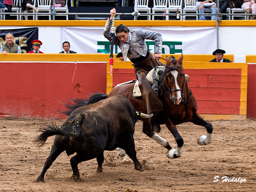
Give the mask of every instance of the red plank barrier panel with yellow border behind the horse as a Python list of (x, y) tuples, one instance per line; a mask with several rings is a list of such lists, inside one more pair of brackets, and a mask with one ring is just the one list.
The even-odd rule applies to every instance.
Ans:
[[(245, 118), (247, 102), (247, 64), (183, 62), (190, 77), (189, 88), (198, 102), (198, 113), (215, 114), (207, 119)], [(129, 62), (116, 62), (108, 76), (107, 93), (116, 84), (136, 79)]]

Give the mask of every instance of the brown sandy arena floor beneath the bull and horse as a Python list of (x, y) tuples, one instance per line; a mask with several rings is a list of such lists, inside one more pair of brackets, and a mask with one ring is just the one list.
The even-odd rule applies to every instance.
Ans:
[[(1, 192), (255, 192), (256, 121), (212, 121), (213, 142), (197, 144), (206, 134), (203, 127), (178, 125), (183, 137), (180, 158), (167, 158), (167, 150), (142, 133), (142, 122), (135, 127), (138, 160), (145, 171), (122, 162), (116, 151), (105, 151), (103, 173), (96, 173), (96, 159), (79, 164), (82, 181), (72, 180), (70, 158), (64, 152), (46, 172), (44, 182), (36, 182), (42, 171), (54, 137), (43, 148), (32, 140), (40, 125), (60, 120), (0, 119), (0, 191)], [(159, 135), (176, 148), (166, 126)], [(222, 177), (239, 180), (223, 182)], [(217, 178), (218, 177), (218, 181)], [(216, 182), (214, 182), (214, 180)], [(242, 182), (241, 182), (242, 181)]]

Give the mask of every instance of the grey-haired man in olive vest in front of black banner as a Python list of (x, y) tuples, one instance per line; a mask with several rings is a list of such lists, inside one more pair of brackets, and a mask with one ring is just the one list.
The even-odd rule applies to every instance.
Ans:
[(15, 44), (13, 41), (14, 41), (14, 36), (12, 35), (12, 33), (7, 33), (6, 44), (3, 44), (0, 47), (0, 52), (3, 55), (6, 55), (7, 53), (21, 53), (20, 46)]

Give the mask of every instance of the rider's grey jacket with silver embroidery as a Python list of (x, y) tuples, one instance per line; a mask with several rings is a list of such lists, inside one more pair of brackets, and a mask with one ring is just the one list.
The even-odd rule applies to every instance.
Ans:
[[(105, 25), (103, 34), (105, 38), (111, 41), (111, 27), (112, 20), (108, 19)], [(161, 53), (162, 50), (162, 35), (159, 32), (134, 29), (129, 32), (128, 42), (122, 43), (119, 38), (114, 36), (114, 44), (118, 45), (122, 51), (124, 61), (127, 57), (129, 59), (138, 58), (140, 55), (146, 56), (148, 48), (145, 43), (145, 39), (150, 39), (155, 41), (154, 53)], [(129, 53), (128, 53), (129, 50)]]

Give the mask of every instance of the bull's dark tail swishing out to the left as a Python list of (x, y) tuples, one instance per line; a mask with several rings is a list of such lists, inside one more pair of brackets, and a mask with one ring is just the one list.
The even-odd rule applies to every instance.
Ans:
[(77, 134), (67, 133), (61, 131), (54, 123), (51, 125), (45, 125), (45, 127), (39, 129), (42, 132), (33, 142), (38, 143), (39, 147), (42, 147), (46, 142), (47, 138), (52, 135), (63, 135), (63, 136), (76, 136)]

